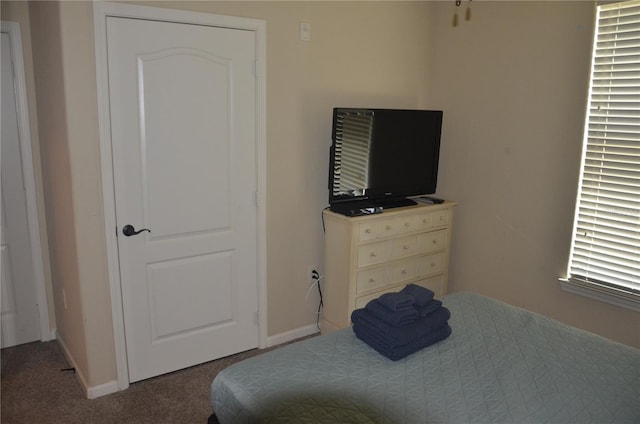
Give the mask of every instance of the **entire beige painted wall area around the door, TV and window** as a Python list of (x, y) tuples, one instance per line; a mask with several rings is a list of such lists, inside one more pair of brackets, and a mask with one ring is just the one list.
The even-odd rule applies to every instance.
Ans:
[[(575, 199), (591, 4), (473, 2), (472, 21), (457, 28), (454, 2), (143, 4), (267, 22), (269, 335), (316, 321), (306, 272), (323, 259), (331, 108), (425, 107), (445, 110), (438, 194), (460, 202), (451, 288), (640, 346), (637, 313), (557, 282)], [(115, 379), (115, 360), (91, 13), (90, 2), (38, 3), (30, 25), (58, 328), (98, 385)], [(310, 42), (298, 39), (300, 21), (311, 23)]]

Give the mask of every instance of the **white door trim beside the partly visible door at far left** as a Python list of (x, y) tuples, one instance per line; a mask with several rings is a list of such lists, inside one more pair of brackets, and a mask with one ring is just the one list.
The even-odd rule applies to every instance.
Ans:
[(20, 136), (20, 154), (22, 159), (22, 177), (27, 206), (27, 223), (29, 225), (29, 246), (33, 256), (33, 277), (35, 279), (36, 301), (40, 314), (40, 340), (43, 342), (54, 338), (49, 323), (49, 305), (45, 288), (44, 265), (42, 261), (42, 240), (40, 239), (40, 222), (38, 221), (38, 205), (36, 200), (36, 183), (33, 169), (33, 151), (31, 149), (31, 129), (29, 126), (29, 107), (27, 104), (27, 83), (22, 55), (22, 37), (17, 22), (0, 21), (0, 32), (9, 35), (13, 58), (16, 96), (16, 113), (18, 118), (18, 134)]

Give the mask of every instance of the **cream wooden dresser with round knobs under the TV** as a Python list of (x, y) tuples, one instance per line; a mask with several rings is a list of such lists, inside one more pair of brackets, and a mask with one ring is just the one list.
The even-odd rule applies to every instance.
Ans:
[(386, 292), (419, 284), (447, 293), (456, 203), (346, 217), (324, 211), (322, 333), (347, 327), (351, 312)]

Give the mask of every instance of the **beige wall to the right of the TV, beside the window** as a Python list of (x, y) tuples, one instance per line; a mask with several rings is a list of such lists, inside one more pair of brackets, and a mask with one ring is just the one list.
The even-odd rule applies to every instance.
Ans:
[[(461, 7), (461, 16), (464, 8)], [(456, 211), (450, 288), (640, 347), (640, 314), (561, 290), (586, 110), (592, 2), (434, 3), (439, 194)]]

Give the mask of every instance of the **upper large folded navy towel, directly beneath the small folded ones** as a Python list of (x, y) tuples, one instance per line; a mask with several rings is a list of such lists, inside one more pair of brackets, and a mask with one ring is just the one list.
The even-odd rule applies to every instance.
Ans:
[(428, 333), (439, 329), (447, 323), (451, 317), (451, 312), (441, 306), (435, 312), (426, 317), (419, 318), (411, 324), (402, 327), (394, 327), (376, 318), (365, 308), (356, 309), (351, 313), (351, 321), (358, 324), (364, 331), (377, 334), (388, 345), (401, 346), (415, 339), (421, 338)]

